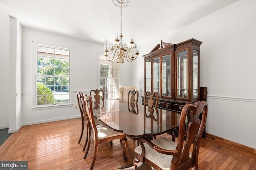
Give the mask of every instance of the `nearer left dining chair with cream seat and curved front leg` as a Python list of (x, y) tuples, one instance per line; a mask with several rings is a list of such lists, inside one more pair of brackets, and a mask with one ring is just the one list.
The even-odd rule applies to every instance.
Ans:
[(88, 140), (88, 146), (86, 149), (86, 153), (84, 155), (84, 159), (86, 158), (90, 144), (91, 144), (91, 139), (94, 140), (94, 153), (93, 153), (93, 158), (92, 158), (92, 163), (90, 166), (90, 170), (92, 170), (97, 153), (98, 153), (98, 145), (102, 144), (104, 142), (112, 141), (115, 139), (119, 139), (124, 143), (124, 150), (123, 150), (123, 157), (124, 160), (127, 161), (127, 157), (125, 156), (125, 150), (127, 146), (127, 138), (122, 132), (117, 132), (115, 130), (112, 130), (111, 128), (107, 127), (106, 125), (95, 125), (94, 121), (94, 115), (92, 111), (92, 98), (90, 96), (83, 96), (83, 105), (84, 105), (84, 111), (87, 114), (88, 118), (88, 128), (89, 128), (89, 140)]

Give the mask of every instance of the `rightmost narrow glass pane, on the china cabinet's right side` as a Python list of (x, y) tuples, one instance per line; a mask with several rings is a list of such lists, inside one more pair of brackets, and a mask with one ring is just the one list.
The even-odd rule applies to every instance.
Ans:
[(193, 50), (193, 98), (198, 98), (198, 51)]

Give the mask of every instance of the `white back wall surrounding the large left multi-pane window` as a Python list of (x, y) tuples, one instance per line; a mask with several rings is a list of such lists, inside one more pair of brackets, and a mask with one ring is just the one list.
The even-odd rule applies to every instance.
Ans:
[[(72, 85), (73, 85), (73, 105), (70, 107), (52, 109), (32, 109), (32, 89), (33, 89), (33, 42), (58, 45), (62, 47), (72, 47)], [(23, 91), (23, 124), (30, 125), (48, 121), (71, 119), (80, 117), (80, 112), (75, 109), (77, 105), (76, 93), (86, 92), (98, 87), (98, 52), (103, 52), (103, 45), (84, 40), (64, 37), (47, 32), (23, 28), (23, 58), (22, 58), (22, 91)], [(121, 72), (124, 82), (129, 82), (130, 75), (126, 73), (129, 65), (122, 65)]]

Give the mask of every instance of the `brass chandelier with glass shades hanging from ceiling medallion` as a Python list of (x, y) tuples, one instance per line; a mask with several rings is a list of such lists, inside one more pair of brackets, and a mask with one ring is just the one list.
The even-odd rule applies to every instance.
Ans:
[[(105, 57), (108, 61), (112, 61), (117, 57), (118, 63), (124, 63), (124, 58), (128, 62), (132, 62), (138, 57), (139, 45), (137, 44), (137, 39), (135, 39), (134, 34), (130, 34), (130, 44), (126, 45), (124, 36), (122, 35), (122, 7), (129, 6), (132, 0), (112, 0), (115, 6), (120, 7), (120, 33), (115, 32), (115, 42), (109, 42), (109, 38), (104, 36), (104, 51)], [(114, 55), (109, 56), (108, 52), (111, 51)]]

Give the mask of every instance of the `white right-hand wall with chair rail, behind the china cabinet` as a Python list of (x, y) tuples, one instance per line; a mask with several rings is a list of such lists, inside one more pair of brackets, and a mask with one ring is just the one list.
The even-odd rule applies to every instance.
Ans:
[[(202, 41), (200, 86), (208, 87), (206, 131), (252, 148), (256, 148), (255, 8), (254, 0), (235, 2), (184, 26), (175, 34), (160, 36), (154, 45), (149, 42), (146, 48), (149, 53), (160, 40), (179, 43), (195, 38)], [(140, 57), (134, 67), (136, 73), (140, 73), (137, 82), (143, 81), (143, 67), (139, 67), (142, 61)], [(139, 85), (143, 89), (142, 84)]]

